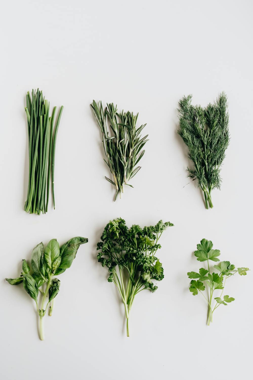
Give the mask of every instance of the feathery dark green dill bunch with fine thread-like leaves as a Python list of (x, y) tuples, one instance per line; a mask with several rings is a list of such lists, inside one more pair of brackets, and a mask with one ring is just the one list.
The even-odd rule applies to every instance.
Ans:
[(193, 106), (192, 95), (179, 101), (178, 133), (189, 149), (194, 169), (187, 168), (189, 177), (198, 179), (204, 192), (206, 208), (212, 208), (211, 191), (220, 189), (220, 170), (229, 144), (228, 104), (225, 93), (206, 108)]

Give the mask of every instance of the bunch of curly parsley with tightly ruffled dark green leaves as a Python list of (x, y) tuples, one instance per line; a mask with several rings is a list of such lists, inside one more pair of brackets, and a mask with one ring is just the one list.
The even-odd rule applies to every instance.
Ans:
[(140, 228), (133, 225), (127, 228), (126, 222), (117, 218), (109, 222), (97, 243), (97, 260), (102, 266), (107, 266), (110, 275), (108, 282), (113, 282), (123, 301), (127, 336), (129, 336), (129, 313), (137, 293), (148, 289), (153, 293), (157, 286), (152, 280), (163, 279), (163, 267), (156, 252), (161, 248), (158, 244), (161, 234), (172, 223), (163, 223)]

